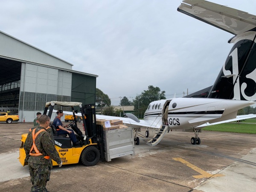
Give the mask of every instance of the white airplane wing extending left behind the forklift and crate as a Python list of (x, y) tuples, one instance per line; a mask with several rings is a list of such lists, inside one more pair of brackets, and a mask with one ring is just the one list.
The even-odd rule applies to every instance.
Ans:
[[(57, 110), (53, 110), (52, 112), (57, 112)], [(66, 115), (73, 115), (72, 112), (70, 111), (63, 111), (64, 114)], [(81, 113), (76, 113), (76, 116), (82, 116)], [(157, 124), (158, 122), (153, 122), (149, 120), (141, 120), (140, 122), (136, 122), (131, 118), (127, 117), (118, 117), (118, 116), (107, 116), (107, 115), (96, 115), (96, 119), (119, 119), (122, 120), (123, 124), (128, 126), (128, 127), (133, 127), (133, 128), (141, 128), (141, 127), (146, 127), (146, 128), (160, 128), (160, 125)]]

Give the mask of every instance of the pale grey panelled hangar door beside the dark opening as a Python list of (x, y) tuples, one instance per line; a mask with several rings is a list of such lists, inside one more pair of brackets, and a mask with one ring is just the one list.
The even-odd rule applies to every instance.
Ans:
[[(22, 63), (20, 78), (20, 119), (33, 121), (50, 101), (71, 101), (72, 73)], [(58, 108), (56, 108), (58, 110)], [(62, 110), (67, 111), (66, 108)], [(70, 109), (68, 109), (69, 111)]]

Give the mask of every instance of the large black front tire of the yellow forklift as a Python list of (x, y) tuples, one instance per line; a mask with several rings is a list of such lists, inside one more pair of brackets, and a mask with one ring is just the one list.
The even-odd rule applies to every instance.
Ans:
[(95, 166), (99, 162), (100, 153), (96, 147), (89, 146), (81, 152), (81, 162), (84, 166)]

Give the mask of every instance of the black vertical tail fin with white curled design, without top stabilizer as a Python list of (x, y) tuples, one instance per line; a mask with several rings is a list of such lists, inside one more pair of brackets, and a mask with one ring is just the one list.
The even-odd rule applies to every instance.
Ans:
[(232, 39), (232, 47), (208, 98), (256, 101), (256, 32)]

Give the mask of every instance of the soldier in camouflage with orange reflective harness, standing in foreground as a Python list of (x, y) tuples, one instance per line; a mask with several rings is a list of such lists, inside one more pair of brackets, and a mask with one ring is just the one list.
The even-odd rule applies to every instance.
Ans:
[(62, 165), (61, 158), (54, 146), (52, 138), (45, 130), (49, 127), (49, 122), (49, 116), (42, 115), (40, 117), (40, 126), (29, 132), (23, 146), (26, 154), (29, 154), (27, 156), (29, 158), (26, 157), (25, 161), (29, 163), (32, 192), (47, 192), (45, 186), (49, 172), (50, 158), (55, 160), (60, 166)]

